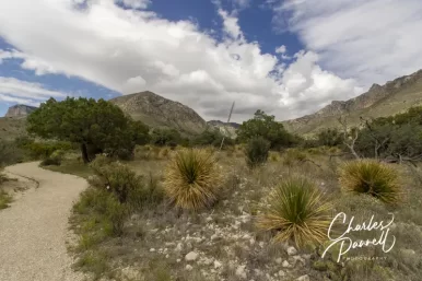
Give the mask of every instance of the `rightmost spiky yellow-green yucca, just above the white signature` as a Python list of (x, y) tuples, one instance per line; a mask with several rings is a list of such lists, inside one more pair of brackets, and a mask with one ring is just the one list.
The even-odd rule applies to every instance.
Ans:
[(340, 168), (340, 185), (345, 191), (368, 194), (389, 204), (399, 203), (402, 196), (398, 172), (375, 160), (345, 163)]

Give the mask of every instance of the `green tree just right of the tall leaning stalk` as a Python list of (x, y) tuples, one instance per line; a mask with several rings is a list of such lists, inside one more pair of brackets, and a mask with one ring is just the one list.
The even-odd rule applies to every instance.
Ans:
[(237, 130), (237, 138), (241, 142), (262, 137), (270, 141), (271, 149), (290, 147), (296, 142), (296, 138), (289, 133), (281, 122), (276, 121), (276, 117), (267, 115), (258, 109), (253, 119), (244, 121)]

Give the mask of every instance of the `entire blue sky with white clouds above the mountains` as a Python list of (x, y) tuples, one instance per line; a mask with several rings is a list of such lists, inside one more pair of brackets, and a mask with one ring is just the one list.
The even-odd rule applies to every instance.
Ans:
[(422, 68), (421, 0), (0, 1), (0, 116), (152, 91), (206, 120), (312, 114)]

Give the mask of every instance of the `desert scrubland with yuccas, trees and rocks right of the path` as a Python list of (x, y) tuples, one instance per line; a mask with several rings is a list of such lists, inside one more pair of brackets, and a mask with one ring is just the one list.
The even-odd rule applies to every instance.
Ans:
[[(149, 129), (104, 101), (50, 99), (28, 118), (32, 138), (14, 143), (22, 161), (87, 179), (70, 250), (93, 279), (413, 281), (422, 274), (420, 116), (412, 108), (359, 128), (341, 120), (303, 139), (258, 110), (223, 141), (212, 130)], [(392, 214), (396, 244), (340, 255), (328, 236), (338, 213), (354, 224)]]

